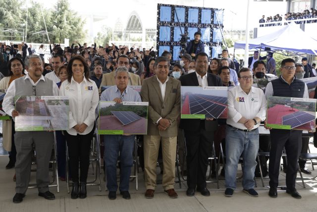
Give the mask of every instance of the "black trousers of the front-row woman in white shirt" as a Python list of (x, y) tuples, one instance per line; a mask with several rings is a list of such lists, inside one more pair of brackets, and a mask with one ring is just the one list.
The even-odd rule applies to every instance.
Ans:
[[(76, 136), (72, 136), (64, 131), (68, 147), (70, 174), (73, 182), (75, 183), (79, 180), (82, 183), (87, 182), (90, 145), (94, 131), (95, 128), (93, 128), (93, 130), (86, 135), (77, 134)], [(80, 178), (78, 170), (79, 165)]]

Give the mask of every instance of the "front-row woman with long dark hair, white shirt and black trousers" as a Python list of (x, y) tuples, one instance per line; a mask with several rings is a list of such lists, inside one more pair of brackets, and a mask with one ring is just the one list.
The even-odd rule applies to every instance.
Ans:
[(87, 197), (89, 152), (95, 131), (99, 94), (96, 83), (89, 79), (89, 68), (83, 57), (75, 56), (70, 59), (67, 74), (67, 80), (59, 88), (59, 95), (69, 97), (69, 130), (64, 131), (64, 134), (73, 181), (71, 198), (83, 199)]

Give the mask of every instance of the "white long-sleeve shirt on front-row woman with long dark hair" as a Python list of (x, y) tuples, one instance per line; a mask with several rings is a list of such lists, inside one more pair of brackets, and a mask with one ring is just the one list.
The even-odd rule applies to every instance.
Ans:
[[(59, 88), (60, 96), (69, 97), (69, 130), (67, 133), (76, 136), (86, 135), (93, 130), (96, 120), (96, 108), (99, 103), (98, 87), (93, 80), (84, 80), (78, 83), (71, 78), (65, 80)], [(73, 127), (85, 123), (88, 127), (83, 133), (78, 133)]]

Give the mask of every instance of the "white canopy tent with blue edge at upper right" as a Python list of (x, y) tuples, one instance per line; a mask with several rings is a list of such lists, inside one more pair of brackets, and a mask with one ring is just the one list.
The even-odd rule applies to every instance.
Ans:
[[(296, 54), (317, 55), (317, 40), (304, 32), (300, 24), (291, 23), (281, 29), (249, 41), (249, 49), (270, 48), (272, 51), (290, 51)], [(245, 49), (245, 42), (235, 42), (235, 49)]]

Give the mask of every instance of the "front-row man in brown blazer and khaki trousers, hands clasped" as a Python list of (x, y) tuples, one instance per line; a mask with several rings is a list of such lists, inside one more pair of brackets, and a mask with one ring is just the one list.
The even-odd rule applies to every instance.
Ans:
[(159, 143), (162, 143), (164, 191), (177, 198), (174, 191), (177, 143), (177, 118), (180, 115), (180, 81), (168, 77), (169, 60), (158, 57), (156, 75), (143, 80), (141, 98), (149, 102), (148, 135), (144, 136), (146, 198), (153, 198), (156, 188), (156, 166)]

